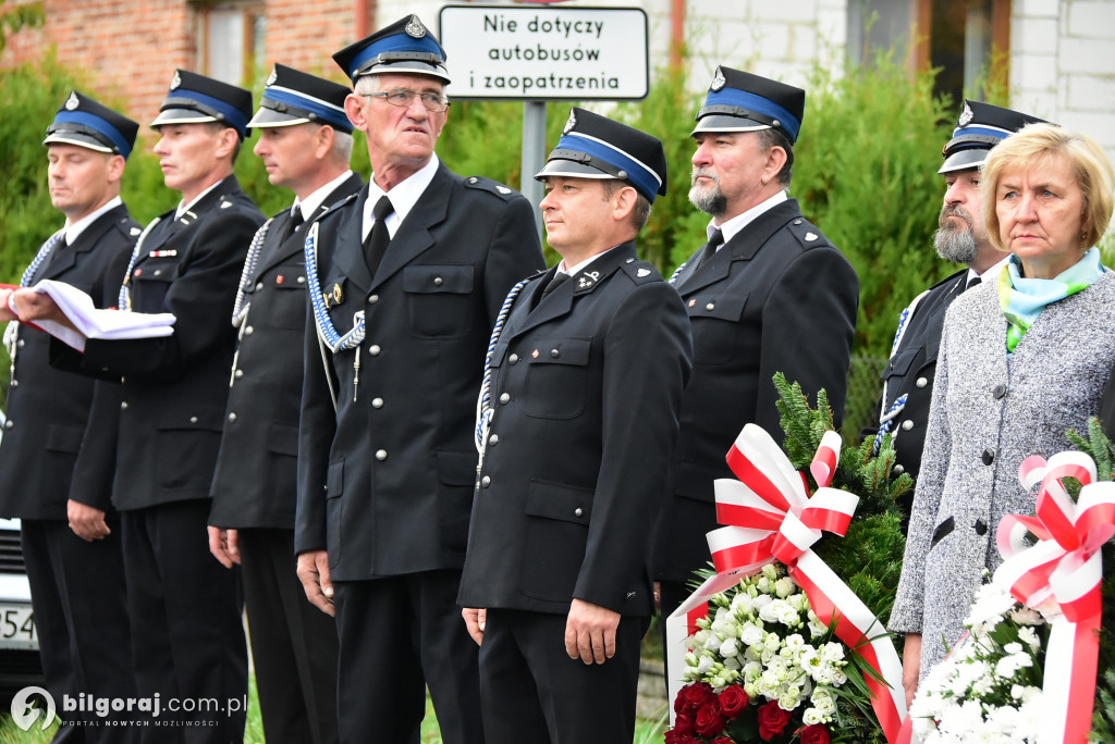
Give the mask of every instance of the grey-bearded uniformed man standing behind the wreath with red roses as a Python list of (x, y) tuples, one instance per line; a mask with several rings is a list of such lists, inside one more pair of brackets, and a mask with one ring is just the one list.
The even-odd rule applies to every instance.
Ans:
[[(717, 68), (692, 138), (689, 199), (712, 216), (708, 244), (675, 275), (689, 311), (694, 373), (651, 559), (662, 616), (709, 561), (712, 481), (733, 478), (725, 456), (746, 423), (783, 441), (772, 379), (784, 372), (844, 410), (859, 281), (844, 255), (786, 189), (805, 91)], [(665, 627), (665, 624), (663, 624)]]

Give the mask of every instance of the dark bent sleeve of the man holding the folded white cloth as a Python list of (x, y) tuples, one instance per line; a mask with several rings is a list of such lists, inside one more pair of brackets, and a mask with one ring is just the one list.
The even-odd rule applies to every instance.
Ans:
[(259, 215), (246, 211), (229, 211), (209, 221), (164, 300), (164, 310), (176, 319), (174, 333), (159, 339), (89, 339), (83, 368), (173, 379), (227, 344), (244, 255), (260, 223)]

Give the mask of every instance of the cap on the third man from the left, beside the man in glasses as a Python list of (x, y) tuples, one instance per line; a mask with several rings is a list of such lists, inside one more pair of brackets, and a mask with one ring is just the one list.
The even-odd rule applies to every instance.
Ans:
[(297, 124), (328, 124), (338, 131), (352, 134), (352, 123), (345, 114), (347, 86), (319, 78), (293, 67), (275, 65), (250, 127), (290, 127)]

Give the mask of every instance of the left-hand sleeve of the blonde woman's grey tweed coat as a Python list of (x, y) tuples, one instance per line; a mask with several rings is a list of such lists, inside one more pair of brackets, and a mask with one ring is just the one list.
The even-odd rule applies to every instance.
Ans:
[(888, 627), (895, 633), (921, 633), (922, 610), (925, 599), (925, 560), (933, 537), (949, 466), (951, 432), (949, 430), (949, 324), (941, 334), (941, 351), (937, 358), (937, 379), (929, 405), (929, 427), (925, 430), (925, 449), (921, 456), (918, 486), (910, 515), (905, 555), (902, 557), (902, 577)]

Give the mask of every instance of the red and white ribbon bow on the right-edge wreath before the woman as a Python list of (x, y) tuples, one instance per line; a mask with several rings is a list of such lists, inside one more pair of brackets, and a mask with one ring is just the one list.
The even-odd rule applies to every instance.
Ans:
[[(1076, 503), (1061, 480), (1075, 478)], [(1034, 517), (1007, 515), (996, 544), (1004, 564), (995, 583), (1024, 605), (1055, 601), (1063, 615), (1050, 623), (1043, 695), (1049, 715), (1039, 742), (1087, 741), (1096, 692), (1103, 564), (1099, 549), (1115, 536), (1115, 482), (1095, 482), (1096, 464), (1083, 452), (1059, 452), (1046, 462), (1029, 457), (1018, 470), (1027, 490), (1040, 483)], [(1038, 538), (1026, 544), (1026, 533)]]

